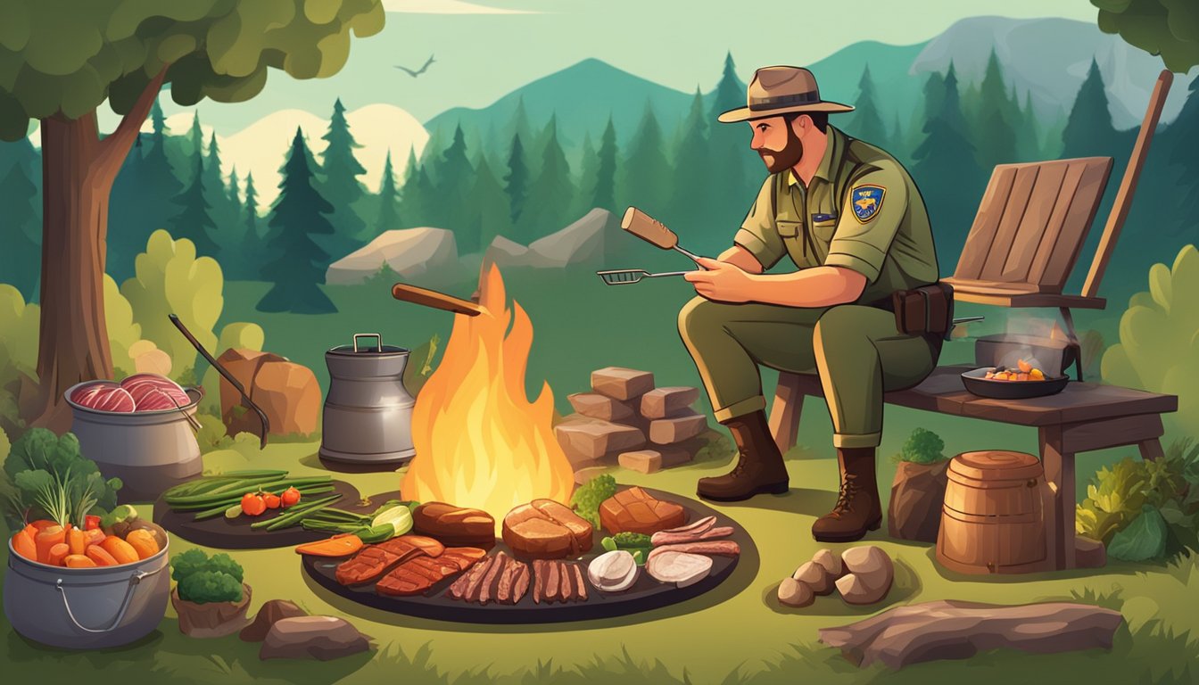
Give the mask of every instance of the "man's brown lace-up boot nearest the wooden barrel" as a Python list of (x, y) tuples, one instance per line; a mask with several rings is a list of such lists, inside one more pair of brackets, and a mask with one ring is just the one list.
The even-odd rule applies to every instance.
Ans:
[(837, 450), (840, 465), (840, 493), (832, 511), (812, 524), (812, 536), (820, 542), (854, 542), (867, 530), (882, 525), (882, 505), (874, 477), (874, 447)]

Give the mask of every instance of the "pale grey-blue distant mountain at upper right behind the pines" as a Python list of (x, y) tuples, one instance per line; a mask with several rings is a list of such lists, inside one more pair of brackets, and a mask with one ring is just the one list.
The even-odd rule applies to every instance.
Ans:
[[(1042, 118), (1054, 118), (1059, 109), (1070, 112), (1091, 59), (1098, 60), (1116, 128), (1140, 124), (1153, 82), (1163, 68), (1159, 58), (1129, 46), (1120, 36), (1099, 31), (1092, 23), (971, 17), (929, 41), (912, 60), (910, 73), (944, 72), (953, 60), (959, 79), (978, 82), (993, 46), (1008, 83), (1014, 82), (1022, 96), (1031, 92)], [(1176, 74), (1162, 110), (1163, 122), (1177, 116), (1189, 83), (1186, 76)]]

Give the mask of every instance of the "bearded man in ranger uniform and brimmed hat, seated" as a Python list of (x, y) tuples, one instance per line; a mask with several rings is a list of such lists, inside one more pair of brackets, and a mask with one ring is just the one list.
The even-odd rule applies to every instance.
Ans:
[[(837, 504), (812, 527), (823, 541), (879, 528), (882, 393), (923, 380), (941, 349), (941, 336), (900, 332), (891, 305), (893, 293), (938, 280), (920, 191), (894, 157), (829, 126), (829, 114), (850, 110), (821, 100), (805, 68), (758, 70), (748, 106), (719, 121), (748, 124), (770, 176), (734, 246), (687, 275), (700, 296), (679, 314), (716, 419), (739, 450), (731, 473), (700, 479), (700, 497), (788, 491), (758, 365), (819, 374), (840, 467)], [(784, 257), (799, 269), (764, 274)]]

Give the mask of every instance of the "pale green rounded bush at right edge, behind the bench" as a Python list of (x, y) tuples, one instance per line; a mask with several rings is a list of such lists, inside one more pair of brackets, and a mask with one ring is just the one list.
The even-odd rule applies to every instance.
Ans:
[(1137, 293), (1120, 318), (1120, 343), (1103, 355), (1103, 380), (1179, 396), (1168, 428), (1199, 426), (1199, 250), (1187, 245), (1173, 268), (1149, 270), (1149, 292)]

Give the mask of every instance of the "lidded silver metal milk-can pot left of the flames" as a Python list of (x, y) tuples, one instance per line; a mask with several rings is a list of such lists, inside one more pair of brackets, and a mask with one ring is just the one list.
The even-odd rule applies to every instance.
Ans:
[[(360, 338), (375, 338), (369, 347)], [(325, 353), (329, 395), (321, 419), (320, 458), (356, 464), (400, 464), (412, 449), (412, 404), (404, 387), (408, 350), (379, 334), (355, 334), (354, 344)]]

